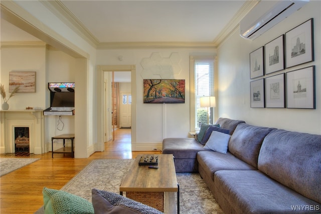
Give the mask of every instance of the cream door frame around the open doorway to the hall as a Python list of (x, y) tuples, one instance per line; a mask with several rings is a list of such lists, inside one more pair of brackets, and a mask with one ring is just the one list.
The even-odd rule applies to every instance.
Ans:
[(104, 151), (105, 139), (105, 102), (104, 102), (104, 72), (131, 72), (131, 148), (136, 144), (136, 66), (135, 65), (97, 65), (97, 148)]

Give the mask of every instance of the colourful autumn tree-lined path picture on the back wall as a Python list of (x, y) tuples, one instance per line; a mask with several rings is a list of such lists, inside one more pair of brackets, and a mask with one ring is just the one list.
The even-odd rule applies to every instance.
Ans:
[(144, 79), (144, 103), (185, 103), (185, 80)]

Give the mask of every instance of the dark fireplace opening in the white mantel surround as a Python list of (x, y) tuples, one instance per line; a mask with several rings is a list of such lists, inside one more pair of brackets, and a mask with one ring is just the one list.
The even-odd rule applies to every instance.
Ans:
[(15, 127), (15, 155), (30, 155), (29, 127)]

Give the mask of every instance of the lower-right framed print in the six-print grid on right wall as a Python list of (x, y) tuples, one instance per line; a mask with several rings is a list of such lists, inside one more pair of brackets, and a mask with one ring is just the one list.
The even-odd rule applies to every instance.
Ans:
[(315, 109), (315, 66), (286, 73), (286, 107)]

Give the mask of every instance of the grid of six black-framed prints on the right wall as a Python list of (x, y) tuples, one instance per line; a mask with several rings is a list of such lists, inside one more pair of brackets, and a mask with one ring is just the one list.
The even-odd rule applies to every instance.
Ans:
[(251, 52), (250, 107), (315, 109), (315, 66), (295, 69), (314, 61), (313, 46), (311, 18)]

